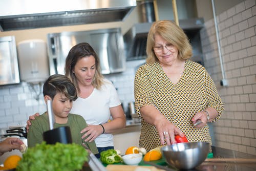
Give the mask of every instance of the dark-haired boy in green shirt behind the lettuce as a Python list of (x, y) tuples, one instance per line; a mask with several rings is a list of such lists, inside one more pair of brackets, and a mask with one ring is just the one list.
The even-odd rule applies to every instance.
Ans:
[[(77, 99), (77, 92), (74, 84), (64, 75), (51, 75), (44, 83), (44, 100), (52, 100), (52, 111), (55, 118), (54, 128), (60, 126), (69, 126), (71, 130), (72, 141), (77, 144), (86, 143), (93, 154), (98, 153), (94, 141), (84, 142), (81, 139), (80, 131), (87, 126), (86, 121), (80, 115), (70, 114), (73, 101)], [(28, 132), (28, 147), (35, 146), (36, 143), (43, 141), (42, 134), (50, 130), (49, 118), (47, 112), (36, 117), (31, 121)]]

